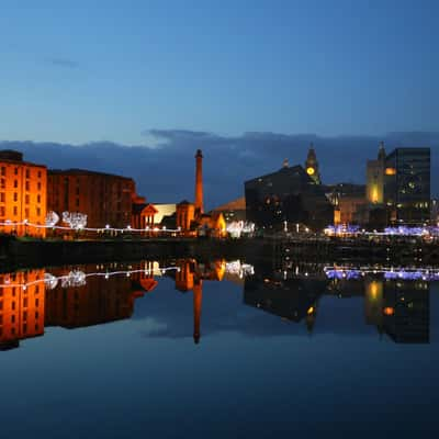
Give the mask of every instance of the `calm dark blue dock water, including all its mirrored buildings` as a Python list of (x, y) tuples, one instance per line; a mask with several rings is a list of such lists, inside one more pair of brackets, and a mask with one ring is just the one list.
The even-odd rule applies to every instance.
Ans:
[(432, 437), (439, 282), (375, 271), (0, 274), (2, 437)]

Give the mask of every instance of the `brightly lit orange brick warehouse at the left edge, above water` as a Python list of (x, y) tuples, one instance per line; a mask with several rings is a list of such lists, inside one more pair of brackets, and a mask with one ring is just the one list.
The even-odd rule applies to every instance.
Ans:
[[(23, 161), (23, 154), (19, 151), (0, 151), (0, 232), (44, 237), (46, 191), (45, 166)], [(25, 219), (29, 226), (3, 225), (5, 222), (22, 223)]]

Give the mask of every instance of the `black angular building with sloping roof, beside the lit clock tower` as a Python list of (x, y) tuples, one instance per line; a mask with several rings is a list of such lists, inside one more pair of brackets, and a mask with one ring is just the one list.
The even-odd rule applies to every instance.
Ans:
[(334, 222), (334, 207), (325, 189), (302, 166), (245, 182), (246, 218), (259, 228), (285, 229), (304, 224), (322, 229)]

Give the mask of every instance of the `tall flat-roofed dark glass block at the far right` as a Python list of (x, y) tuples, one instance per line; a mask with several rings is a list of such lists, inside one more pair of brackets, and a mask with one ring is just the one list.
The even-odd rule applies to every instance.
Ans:
[(385, 159), (384, 200), (391, 224), (430, 219), (430, 148), (396, 148)]

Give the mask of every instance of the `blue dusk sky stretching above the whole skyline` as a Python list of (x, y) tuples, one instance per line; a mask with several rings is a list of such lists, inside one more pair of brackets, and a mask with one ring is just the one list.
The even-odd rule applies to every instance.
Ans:
[[(247, 133), (275, 133), (271, 139), (303, 140), (292, 143), (292, 162), (303, 162), (309, 139), (326, 139), (316, 142), (328, 160), (323, 175), (361, 182), (362, 168), (335, 171), (328, 145), (341, 139), (350, 168), (393, 133), (439, 151), (438, 16), (439, 2), (428, 0), (3, 2), (0, 140), (22, 142), (33, 159), (60, 167), (69, 166), (60, 145), (58, 157), (42, 157), (35, 145), (135, 145), (151, 162), (168, 148), (162, 165), (184, 144), (180, 166), (192, 178), (193, 151), (209, 150), (212, 137), (227, 139), (230, 160), (244, 140), (246, 154), (257, 155)], [(173, 144), (157, 132), (172, 133)], [(209, 138), (189, 145), (185, 132)], [(413, 144), (414, 133), (429, 143)], [(271, 171), (288, 145), (267, 148), (272, 161), (260, 156), (260, 166), (234, 172)], [(147, 183), (137, 158), (106, 166), (103, 149), (90, 155), (77, 165), (134, 175), (153, 199), (173, 196)], [(215, 196), (239, 191), (229, 185)]]

